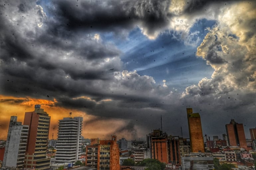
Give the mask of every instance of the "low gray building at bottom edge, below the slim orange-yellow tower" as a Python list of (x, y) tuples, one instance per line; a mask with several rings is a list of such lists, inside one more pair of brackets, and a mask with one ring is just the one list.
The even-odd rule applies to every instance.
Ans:
[(204, 153), (192, 153), (181, 158), (182, 170), (213, 170), (213, 157)]

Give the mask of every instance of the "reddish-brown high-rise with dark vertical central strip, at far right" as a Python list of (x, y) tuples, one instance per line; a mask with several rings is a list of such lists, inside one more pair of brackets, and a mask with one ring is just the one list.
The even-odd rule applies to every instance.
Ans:
[(244, 127), (242, 123), (236, 123), (234, 119), (231, 119), (230, 123), (226, 124), (226, 132), (229, 146), (247, 148)]

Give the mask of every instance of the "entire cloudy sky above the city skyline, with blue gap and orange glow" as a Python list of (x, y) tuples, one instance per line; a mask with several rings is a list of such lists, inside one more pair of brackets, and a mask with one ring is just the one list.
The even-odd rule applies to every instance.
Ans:
[(255, 25), (255, 0), (1, 0), (0, 139), (35, 104), (50, 139), (69, 112), (84, 138), (189, 138), (188, 107), (203, 135), (234, 119), (250, 138)]

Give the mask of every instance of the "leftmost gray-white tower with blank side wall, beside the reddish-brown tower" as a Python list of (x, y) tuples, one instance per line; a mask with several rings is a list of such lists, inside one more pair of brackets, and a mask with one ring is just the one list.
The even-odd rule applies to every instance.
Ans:
[(11, 116), (2, 162), (4, 168), (23, 168), (28, 131), (29, 126), (17, 122), (17, 116)]

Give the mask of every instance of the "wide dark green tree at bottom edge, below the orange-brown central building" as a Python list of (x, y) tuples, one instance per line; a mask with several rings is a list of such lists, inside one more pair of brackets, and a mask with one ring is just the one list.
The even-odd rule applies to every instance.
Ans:
[(137, 166), (147, 166), (146, 170), (164, 170), (165, 163), (160, 162), (157, 159), (143, 159), (141, 162), (136, 164)]

